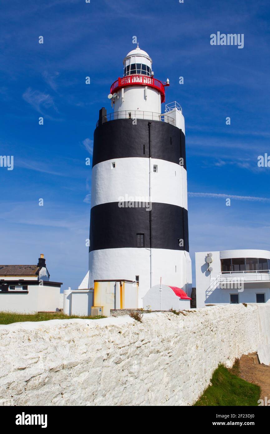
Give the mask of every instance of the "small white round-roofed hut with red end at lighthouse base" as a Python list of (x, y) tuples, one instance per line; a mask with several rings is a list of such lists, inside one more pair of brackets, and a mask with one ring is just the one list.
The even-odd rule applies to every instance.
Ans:
[(154, 285), (143, 297), (143, 309), (189, 309), (190, 300), (185, 291), (177, 286)]

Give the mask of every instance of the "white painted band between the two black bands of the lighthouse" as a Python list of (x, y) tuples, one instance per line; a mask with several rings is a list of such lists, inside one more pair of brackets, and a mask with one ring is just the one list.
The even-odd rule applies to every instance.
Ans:
[[(111, 163), (115, 162), (115, 168)], [(187, 173), (183, 166), (151, 158), (152, 202), (172, 204), (187, 210)], [(153, 165), (158, 166), (153, 172)], [(123, 182), (124, 180), (124, 182)], [(149, 159), (116, 158), (92, 169), (91, 207), (118, 202), (119, 197), (149, 198)]]

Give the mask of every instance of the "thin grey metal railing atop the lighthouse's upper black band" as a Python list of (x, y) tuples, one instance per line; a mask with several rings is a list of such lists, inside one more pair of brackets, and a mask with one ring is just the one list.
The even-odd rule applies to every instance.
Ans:
[[(114, 121), (116, 119), (147, 119), (150, 121), (166, 122), (174, 125), (174, 118), (168, 115), (154, 112), (143, 112), (141, 110), (121, 110), (119, 112), (109, 113), (102, 116), (102, 124), (104, 122)], [(97, 122), (97, 127), (100, 125), (100, 120)]]

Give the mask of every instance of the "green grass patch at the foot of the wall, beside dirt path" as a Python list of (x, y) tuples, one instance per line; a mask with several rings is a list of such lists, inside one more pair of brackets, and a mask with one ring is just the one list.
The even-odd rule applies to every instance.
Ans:
[(260, 399), (260, 387), (248, 383), (232, 372), (238, 372), (238, 365), (231, 370), (219, 365), (211, 378), (212, 385), (208, 386), (194, 405), (257, 406)]

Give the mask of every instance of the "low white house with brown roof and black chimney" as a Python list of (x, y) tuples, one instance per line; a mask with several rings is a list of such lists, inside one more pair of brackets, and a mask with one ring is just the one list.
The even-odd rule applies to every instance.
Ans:
[(55, 312), (61, 282), (52, 282), (44, 255), (37, 265), (0, 265), (0, 311)]

